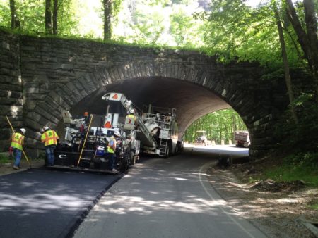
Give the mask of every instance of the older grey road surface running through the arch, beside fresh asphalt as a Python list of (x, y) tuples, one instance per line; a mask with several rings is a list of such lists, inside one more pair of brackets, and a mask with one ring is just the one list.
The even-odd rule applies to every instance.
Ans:
[(100, 199), (74, 237), (265, 237), (227, 206), (205, 173), (218, 154), (246, 156), (247, 149), (216, 146), (214, 155), (207, 149), (143, 160)]

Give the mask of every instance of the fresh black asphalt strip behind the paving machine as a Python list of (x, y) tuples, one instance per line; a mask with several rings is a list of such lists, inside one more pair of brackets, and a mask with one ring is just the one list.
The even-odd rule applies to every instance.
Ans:
[(36, 168), (0, 177), (0, 237), (69, 237), (121, 175)]

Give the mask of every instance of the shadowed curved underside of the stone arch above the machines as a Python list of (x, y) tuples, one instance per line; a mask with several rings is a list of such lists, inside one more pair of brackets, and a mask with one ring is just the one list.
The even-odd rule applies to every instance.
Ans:
[(86, 96), (71, 108), (73, 115), (81, 115), (84, 111), (105, 114), (106, 102), (102, 95), (106, 92), (123, 93), (138, 108), (143, 105), (176, 108), (179, 124), (179, 137), (195, 120), (207, 113), (230, 108), (210, 90), (185, 80), (170, 77), (138, 77), (107, 84)]

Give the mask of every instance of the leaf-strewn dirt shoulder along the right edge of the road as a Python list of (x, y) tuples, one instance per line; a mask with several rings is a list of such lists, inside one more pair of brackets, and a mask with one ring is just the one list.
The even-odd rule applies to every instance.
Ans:
[(214, 167), (209, 168), (208, 173), (218, 194), (269, 237), (316, 237), (302, 223), (302, 218), (318, 220), (317, 211), (308, 208), (308, 204), (317, 199), (317, 189), (257, 191), (231, 170)]

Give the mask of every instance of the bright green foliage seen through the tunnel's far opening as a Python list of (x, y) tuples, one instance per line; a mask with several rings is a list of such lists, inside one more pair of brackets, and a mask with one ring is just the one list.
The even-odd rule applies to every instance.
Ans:
[(208, 140), (214, 140), (216, 144), (220, 144), (221, 140), (234, 142), (234, 132), (247, 130), (247, 128), (240, 115), (232, 109), (225, 109), (208, 113), (192, 123), (184, 134), (184, 140), (194, 142), (198, 130), (205, 130)]

